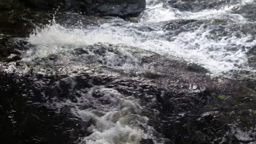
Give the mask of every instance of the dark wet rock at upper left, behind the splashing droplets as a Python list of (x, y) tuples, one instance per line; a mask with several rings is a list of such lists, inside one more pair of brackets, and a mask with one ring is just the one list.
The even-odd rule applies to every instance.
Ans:
[(45, 13), (45, 11), (34, 9), (3, 10), (0, 13), (0, 19), (1, 34), (22, 38), (34, 33), (34, 30), (38, 27), (44, 27), (50, 23), (53, 24), (53, 21), (62, 23), (65, 26), (86, 27), (98, 25), (98, 21), (106, 20), (101, 17), (66, 13), (65, 11), (56, 12), (49, 10)]

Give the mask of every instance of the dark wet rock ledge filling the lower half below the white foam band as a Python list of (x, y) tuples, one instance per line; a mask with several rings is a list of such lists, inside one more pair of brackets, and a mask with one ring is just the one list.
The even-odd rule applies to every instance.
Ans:
[[(28, 46), (12, 40), (19, 51)], [(108, 133), (110, 143), (256, 141), (253, 81), (211, 78), (196, 64), (122, 44), (16, 56), (0, 65), (1, 143), (90, 143)]]

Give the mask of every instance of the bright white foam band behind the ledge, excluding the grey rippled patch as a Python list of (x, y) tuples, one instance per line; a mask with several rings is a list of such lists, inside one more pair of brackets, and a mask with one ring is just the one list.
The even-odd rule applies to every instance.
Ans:
[[(245, 23), (247, 20), (242, 15), (231, 14), (230, 10), (237, 5), (252, 3), (252, 0), (243, 1), (240, 4), (229, 5), (220, 9), (207, 9), (197, 13), (178, 11), (173, 8), (164, 8), (157, 1), (147, 3), (147, 10), (142, 16), (141, 22), (130, 23), (121, 19), (114, 19), (103, 23), (101, 26), (90, 28), (69, 28), (57, 23), (38, 29), (36, 34), (28, 38), (34, 49), (27, 51), (24, 61), (33, 61), (51, 54), (74, 49), (82, 45), (90, 45), (98, 42), (110, 44), (125, 44), (141, 49), (170, 54), (182, 57), (189, 62), (202, 65), (213, 74), (227, 73), (233, 69), (247, 69), (246, 52), (248, 47), (256, 45), (256, 41), (250, 41), (251, 35), (227, 35), (222, 38), (211, 34), (211, 27), (200, 27), (190, 32), (182, 32), (175, 37), (166, 40), (163, 38), (168, 33), (161, 27), (155, 26), (155, 31), (143, 31), (139, 27), (150, 25), (159, 21), (176, 19), (229, 19), (237, 23)], [(117, 25), (118, 23), (118, 25)], [(215, 37), (215, 38), (213, 38)], [(235, 48), (235, 51), (231, 51)]]

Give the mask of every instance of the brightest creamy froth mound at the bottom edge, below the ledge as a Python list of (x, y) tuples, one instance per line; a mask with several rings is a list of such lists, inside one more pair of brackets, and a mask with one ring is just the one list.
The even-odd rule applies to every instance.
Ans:
[(147, 121), (147, 118), (139, 116), (135, 104), (132, 101), (123, 100), (120, 107), (117, 106), (103, 117), (97, 118), (96, 125), (89, 128), (93, 133), (84, 140), (91, 144), (139, 143), (143, 130), (136, 125), (142, 120)]

